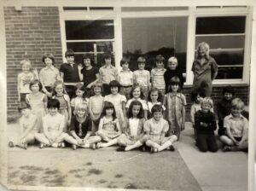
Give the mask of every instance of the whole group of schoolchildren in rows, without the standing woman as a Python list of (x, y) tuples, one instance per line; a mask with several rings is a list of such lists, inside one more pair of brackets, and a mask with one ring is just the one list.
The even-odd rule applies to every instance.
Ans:
[[(131, 72), (129, 60), (120, 61), (121, 71), (113, 67), (112, 55), (97, 69), (90, 55), (82, 64), (74, 62), (68, 49), (67, 63), (58, 70), (55, 57), (44, 54), (46, 65), (39, 74), (29, 60), (20, 62), (18, 75), (20, 137), (9, 147), (27, 148), (35, 140), (39, 148), (105, 148), (118, 145), (117, 151), (141, 148), (150, 153), (174, 151), (173, 143), (184, 130), (186, 97), (182, 93), (183, 73), (177, 58), (155, 57), (155, 67), (145, 70), (146, 60), (137, 59), (138, 70)], [(247, 148), (247, 119), (241, 115), (244, 103), (227, 87), (217, 104), (218, 135), (224, 151)], [(216, 152), (218, 144), (213, 102), (197, 89), (191, 92), (191, 121), (195, 141), (202, 151)]]

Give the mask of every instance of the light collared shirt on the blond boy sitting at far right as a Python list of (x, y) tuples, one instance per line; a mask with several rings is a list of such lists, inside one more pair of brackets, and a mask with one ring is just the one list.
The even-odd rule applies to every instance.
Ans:
[(241, 137), (243, 130), (248, 129), (248, 120), (242, 115), (239, 118), (234, 118), (230, 114), (224, 118), (224, 127), (230, 129), (232, 136)]

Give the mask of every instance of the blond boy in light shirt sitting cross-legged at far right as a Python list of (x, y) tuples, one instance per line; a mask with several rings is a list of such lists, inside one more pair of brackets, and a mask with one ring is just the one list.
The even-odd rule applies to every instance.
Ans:
[(227, 136), (220, 136), (224, 143), (223, 151), (241, 151), (248, 148), (248, 121), (241, 115), (244, 107), (240, 98), (231, 101), (231, 113), (224, 118)]

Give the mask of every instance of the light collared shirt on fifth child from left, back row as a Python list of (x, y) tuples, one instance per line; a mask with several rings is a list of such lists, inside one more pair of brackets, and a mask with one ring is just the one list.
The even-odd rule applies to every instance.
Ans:
[(104, 65), (100, 68), (99, 73), (102, 84), (109, 84), (111, 81), (117, 80), (118, 78), (118, 70), (112, 65), (109, 67)]

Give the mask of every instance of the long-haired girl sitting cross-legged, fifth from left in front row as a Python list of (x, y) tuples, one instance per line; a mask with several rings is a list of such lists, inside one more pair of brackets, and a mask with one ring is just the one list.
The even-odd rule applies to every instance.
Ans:
[(131, 101), (125, 120), (125, 132), (118, 138), (119, 148), (117, 151), (130, 151), (141, 147), (146, 139), (144, 136), (143, 125), (143, 104), (140, 101)]

